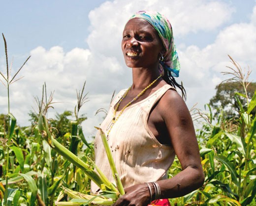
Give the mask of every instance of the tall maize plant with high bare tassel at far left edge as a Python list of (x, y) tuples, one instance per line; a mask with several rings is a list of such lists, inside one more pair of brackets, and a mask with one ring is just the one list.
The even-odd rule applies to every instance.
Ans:
[[(6, 60), (6, 76), (0, 71), (0, 77), (3, 78), (3, 80), (0, 79), (1, 83), (7, 88), (7, 100), (8, 100), (8, 115), (7, 115), (7, 133), (3, 133), (3, 146), (5, 147), (4, 152), (4, 160), (5, 164), (2, 168), (0, 167), (0, 170), (3, 169), (3, 174), (5, 176), (5, 181), (0, 181), (0, 203), (4, 206), (7, 205), (18, 205), (18, 200), (20, 198), (21, 192), (18, 189), (10, 188), (9, 185), (13, 184), (12, 178), (21, 178), (22, 180), (26, 180), (29, 184), (29, 187), (31, 189), (31, 196), (30, 196), (30, 205), (33, 206), (35, 199), (36, 199), (36, 193), (37, 193), (37, 187), (35, 185), (35, 181), (33, 178), (28, 175), (28, 171), (24, 168), (24, 158), (22, 155), (22, 150), (16, 146), (13, 146), (13, 137), (15, 134), (15, 127), (16, 127), (16, 118), (11, 114), (10, 112), (10, 85), (16, 81), (18, 81), (20, 78), (16, 78), (23, 66), (27, 63), (30, 56), (27, 58), (27, 60), (23, 63), (23, 65), (18, 69), (18, 71), (14, 74), (13, 77), (11, 77), (11, 69), (12, 69), (12, 62), (9, 66), (8, 62), (8, 53), (7, 53), (7, 43), (5, 40), (5, 37), (2, 33), (2, 38), (4, 41), (4, 49), (5, 49), (5, 60)], [(14, 157), (10, 156), (11, 152), (13, 152), (16, 156), (16, 158), (19, 161), (20, 168), (17, 170), (14, 170), (13, 163), (14, 163)], [(11, 164), (10, 164), (11, 163)], [(12, 169), (10, 172), (10, 168)], [(0, 172), (0, 174), (2, 171)], [(1, 175), (0, 175), (1, 176)], [(5, 187), (4, 187), (5, 186)]]

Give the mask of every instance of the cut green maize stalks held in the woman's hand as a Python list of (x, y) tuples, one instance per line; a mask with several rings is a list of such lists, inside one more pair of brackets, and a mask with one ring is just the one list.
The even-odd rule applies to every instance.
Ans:
[[(105, 147), (106, 154), (108, 156), (110, 166), (112, 168), (113, 176), (116, 180), (117, 187), (111, 183), (107, 178), (104, 176), (104, 174), (95, 166), (95, 170), (90, 167), (87, 163), (85, 163), (82, 159), (80, 159), (78, 156), (70, 152), (68, 149), (66, 149), (63, 145), (61, 145), (56, 139), (54, 139), (52, 133), (50, 132), (50, 129), (48, 127), (48, 122), (45, 117), (45, 115), (42, 114), (42, 112), (39, 115), (38, 119), (38, 129), (41, 132), (41, 136), (44, 140), (47, 141), (47, 143), (50, 145), (50, 147), (56, 151), (58, 154), (61, 154), (66, 160), (71, 162), (76, 167), (80, 168), (92, 181), (96, 183), (96, 185), (101, 188), (101, 192), (99, 195), (89, 195), (89, 194), (82, 194), (79, 192), (72, 191), (68, 188), (63, 188), (63, 191), (60, 193), (57, 201), (55, 202), (56, 205), (62, 206), (62, 205), (72, 205), (72, 206), (78, 206), (78, 205), (88, 205), (88, 204), (96, 204), (96, 205), (112, 205), (115, 203), (115, 201), (119, 198), (120, 195), (124, 195), (125, 191), (123, 188), (123, 185), (120, 181), (120, 178), (117, 174), (117, 170), (113, 161), (113, 158), (111, 156), (111, 151), (108, 146), (106, 136), (104, 132), (100, 130), (100, 134), (102, 137), (102, 141)], [(64, 197), (64, 194), (66, 194), (71, 200), (69, 202), (61, 202), (62, 198)]]

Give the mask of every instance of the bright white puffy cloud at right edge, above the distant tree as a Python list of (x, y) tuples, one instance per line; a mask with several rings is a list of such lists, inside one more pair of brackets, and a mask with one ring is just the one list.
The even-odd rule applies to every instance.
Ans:
[[(248, 62), (255, 64), (255, 33), (256, 26), (251, 23), (233, 24), (221, 30), (215, 42), (205, 48), (199, 49), (194, 45), (185, 48), (180, 55), (185, 78), (189, 79), (186, 76), (190, 76), (192, 79), (202, 80), (212, 72), (220, 74), (220, 72), (226, 71), (226, 66), (232, 66), (229, 63), (228, 54), (242, 68), (247, 67)], [(198, 84), (198, 82), (196, 83)]]

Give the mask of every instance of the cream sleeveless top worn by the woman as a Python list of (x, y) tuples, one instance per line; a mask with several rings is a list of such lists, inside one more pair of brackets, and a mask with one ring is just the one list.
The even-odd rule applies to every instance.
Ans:
[[(129, 105), (108, 135), (108, 144), (124, 188), (167, 178), (166, 172), (173, 163), (175, 153), (172, 146), (162, 145), (156, 139), (148, 127), (148, 118), (152, 107), (168, 89), (174, 88), (165, 84), (144, 100)], [(105, 133), (113, 119), (114, 106), (126, 91), (120, 91), (112, 101), (100, 125)], [(115, 184), (99, 132), (95, 137), (95, 162), (107, 179)], [(97, 190), (98, 186), (92, 181), (91, 192), (96, 193)]]

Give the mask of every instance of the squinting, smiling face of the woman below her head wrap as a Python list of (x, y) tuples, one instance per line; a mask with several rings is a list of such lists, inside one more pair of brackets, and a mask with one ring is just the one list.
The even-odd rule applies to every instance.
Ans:
[(134, 18), (128, 21), (122, 40), (122, 50), (128, 67), (158, 66), (162, 48), (156, 29), (146, 20)]

